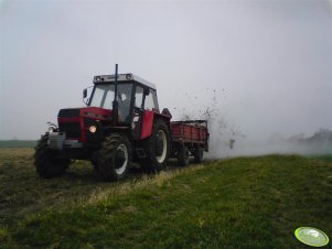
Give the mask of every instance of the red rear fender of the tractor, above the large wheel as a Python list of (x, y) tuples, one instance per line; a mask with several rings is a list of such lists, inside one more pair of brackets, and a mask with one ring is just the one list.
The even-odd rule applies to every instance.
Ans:
[(144, 110), (142, 115), (141, 140), (149, 138), (152, 134), (153, 120), (156, 118), (162, 119), (168, 126), (169, 130), (171, 130), (171, 117), (151, 110)]

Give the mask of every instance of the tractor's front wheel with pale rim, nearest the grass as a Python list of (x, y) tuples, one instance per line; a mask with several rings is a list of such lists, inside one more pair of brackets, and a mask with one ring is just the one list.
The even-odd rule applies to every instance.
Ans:
[(98, 158), (98, 173), (105, 181), (121, 180), (130, 165), (131, 149), (128, 138), (114, 133), (101, 144)]

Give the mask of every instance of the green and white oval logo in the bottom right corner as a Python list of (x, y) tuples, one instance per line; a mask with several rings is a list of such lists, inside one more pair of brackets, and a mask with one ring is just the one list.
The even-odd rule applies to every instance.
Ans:
[(294, 235), (302, 243), (311, 247), (323, 247), (329, 243), (329, 237), (313, 227), (300, 227), (296, 229)]

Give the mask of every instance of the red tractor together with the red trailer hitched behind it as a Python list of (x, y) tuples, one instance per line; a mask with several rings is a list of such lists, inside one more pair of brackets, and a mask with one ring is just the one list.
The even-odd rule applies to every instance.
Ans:
[[(171, 123), (169, 110), (159, 111), (153, 84), (117, 71), (116, 65), (115, 75), (94, 77), (87, 107), (58, 111), (58, 126), (51, 126), (35, 148), (34, 165), (42, 177), (63, 175), (72, 159), (92, 161), (106, 181), (125, 177), (131, 162), (159, 172), (170, 156), (182, 165), (190, 153), (202, 160), (208, 150), (206, 121)], [(83, 95), (87, 98), (87, 89)]]

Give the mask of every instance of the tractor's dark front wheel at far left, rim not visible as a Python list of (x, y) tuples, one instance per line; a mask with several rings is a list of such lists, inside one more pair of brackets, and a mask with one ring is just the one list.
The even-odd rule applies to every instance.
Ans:
[(39, 140), (34, 149), (34, 166), (38, 174), (44, 178), (60, 177), (65, 173), (71, 160), (57, 158), (56, 151), (49, 149), (47, 140), (49, 133)]

